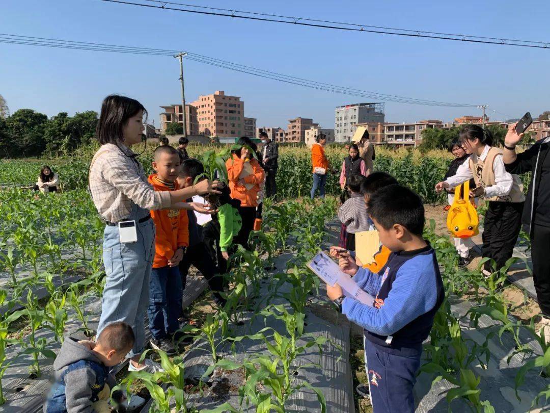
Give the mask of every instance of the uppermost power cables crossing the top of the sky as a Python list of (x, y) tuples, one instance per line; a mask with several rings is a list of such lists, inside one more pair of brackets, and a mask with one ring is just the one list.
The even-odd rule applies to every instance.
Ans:
[[(270, 21), (272, 23), (295, 24), (300, 26), (309, 26), (309, 27), (322, 28), (322, 29), (362, 31), (367, 33), (376, 33), (376, 34), (385, 34), (385, 35), (421, 37), (425, 39), (452, 40), (452, 41), (489, 44), (489, 45), (505, 45), (505, 46), (519, 46), (519, 47), (532, 47), (532, 48), (549, 48), (550, 47), (550, 42), (542, 42), (542, 41), (516, 40), (516, 39), (505, 39), (505, 38), (499, 38), (499, 37), (439, 33), (439, 32), (426, 31), (426, 30), (397, 29), (397, 28), (389, 28), (389, 27), (383, 27), (383, 26), (372, 26), (372, 25), (366, 25), (366, 24), (343, 23), (339, 21), (318, 20), (318, 19), (303, 18), (303, 17), (289, 17), (289, 16), (283, 16), (283, 15), (277, 15), (277, 14), (245, 12), (241, 10), (222, 9), (222, 8), (207, 7), (207, 6), (194, 6), (192, 4), (168, 2), (168, 1), (162, 1), (162, 0), (141, 0), (142, 2), (156, 3), (158, 4), (158, 6), (155, 6), (155, 4), (135, 3), (135, 2), (124, 1), (124, 0), (101, 0), (101, 1), (109, 2), (109, 3), (128, 4), (131, 6), (163, 9), (163, 10), (174, 10), (177, 12), (213, 15), (218, 17), (231, 17), (231, 18), (247, 19), (247, 20)], [(168, 7), (167, 6), (168, 4), (172, 6), (193, 7), (193, 8), (202, 9), (202, 10)], [(216, 10), (216, 11), (209, 12), (205, 10)], [(242, 15), (242, 14), (248, 14), (248, 15)]]

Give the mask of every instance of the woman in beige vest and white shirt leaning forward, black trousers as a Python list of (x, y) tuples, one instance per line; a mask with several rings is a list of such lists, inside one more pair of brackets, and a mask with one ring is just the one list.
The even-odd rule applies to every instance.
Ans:
[(460, 142), (470, 157), (458, 167), (456, 175), (436, 185), (436, 191), (453, 188), (474, 178), (476, 188), (472, 197), (483, 197), (489, 205), (483, 221), (483, 247), (481, 254), (494, 260), (485, 264), (483, 273), (491, 274), (504, 267), (511, 258), (521, 229), (521, 213), (525, 197), (517, 175), (506, 172), (502, 150), (494, 148), (493, 136), (477, 125), (465, 126), (459, 135)]

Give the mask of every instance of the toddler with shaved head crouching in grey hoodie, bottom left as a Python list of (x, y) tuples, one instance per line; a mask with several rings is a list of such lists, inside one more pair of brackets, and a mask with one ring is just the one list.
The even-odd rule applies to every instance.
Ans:
[(115, 384), (109, 369), (126, 357), (134, 340), (131, 327), (122, 321), (108, 324), (96, 343), (65, 339), (53, 362), (56, 382), (43, 412), (108, 411), (109, 389)]

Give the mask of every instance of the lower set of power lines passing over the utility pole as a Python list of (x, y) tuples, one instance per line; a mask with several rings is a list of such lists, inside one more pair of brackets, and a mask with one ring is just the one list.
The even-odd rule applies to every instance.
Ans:
[[(42, 46), (42, 47), (54, 47), (54, 48), (67, 48), (73, 50), (85, 50), (85, 51), (100, 51), (100, 52), (114, 52), (114, 53), (133, 53), (139, 55), (150, 56), (174, 56), (180, 53), (176, 50), (156, 49), (150, 47), (134, 47), (134, 46), (119, 46), (111, 44), (101, 44), (92, 42), (81, 42), (73, 40), (63, 39), (50, 39), (47, 37), (32, 37), (22, 35), (12, 35), (0, 33), (0, 43), (18, 44), (18, 45), (30, 45), (30, 46)], [(281, 73), (270, 72), (269, 70), (263, 70), (250, 66), (244, 66), (238, 63), (227, 62), (221, 59), (213, 57), (199, 55), (197, 53), (187, 52), (186, 58), (208, 64), (210, 66), (216, 66), (224, 69), (234, 70), (236, 72), (246, 73), (254, 75), (256, 77), (267, 78), (271, 80), (282, 81), (283, 83), (293, 84), (298, 86), (304, 86), (311, 89), (324, 90), (332, 93), (339, 93), (351, 96), (364, 97), (366, 99), (392, 101), (404, 104), (415, 104), (425, 106), (448, 106), (448, 107), (473, 107), (475, 105), (456, 104), (451, 102), (439, 102), (423, 99), (413, 99), (405, 96), (379, 94), (376, 92), (352, 89), (345, 86), (338, 86), (330, 83), (322, 83), (314, 80), (308, 80), (304, 78), (294, 77), (290, 75), (284, 75)]]

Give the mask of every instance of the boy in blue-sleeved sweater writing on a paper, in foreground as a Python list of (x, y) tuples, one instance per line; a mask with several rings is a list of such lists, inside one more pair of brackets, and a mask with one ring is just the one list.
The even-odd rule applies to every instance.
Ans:
[(409, 188), (379, 189), (367, 202), (381, 243), (392, 252), (379, 273), (359, 268), (349, 254), (340, 269), (375, 296), (375, 307), (327, 285), (342, 313), (365, 329), (365, 358), (375, 413), (414, 412), (412, 388), (420, 368), (422, 342), (430, 334), (444, 292), (436, 254), (422, 238), (424, 207)]

